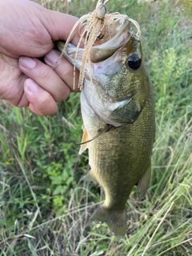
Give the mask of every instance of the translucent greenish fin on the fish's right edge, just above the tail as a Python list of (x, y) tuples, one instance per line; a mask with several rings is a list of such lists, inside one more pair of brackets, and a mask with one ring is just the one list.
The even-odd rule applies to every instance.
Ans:
[(151, 176), (151, 166), (149, 165), (146, 168), (145, 174), (143, 174), (142, 178), (138, 181), (137, 189), (138, 189), (138, 197), (144, 198), (146, 191), (150, 186), (150, 176)]

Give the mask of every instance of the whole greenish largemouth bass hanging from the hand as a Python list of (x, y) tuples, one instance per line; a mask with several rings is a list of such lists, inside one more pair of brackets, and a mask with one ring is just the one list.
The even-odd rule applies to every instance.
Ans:
[[(58, 42), (62, 51), (63, 42)], [(83, 49), (69, 44), (65, 57), (80, 70)], [(76, 56), (76, 55), (77, 56)], [(76, 60), (74, 61), (74, 58)], [(154, 142), (154, 96), (141, 42), (121, 19), (109, 41), (90, 49), (81, 92), (83, 136), (90, 172), (106, 199), (92, 220), (106, 222), (117, 236), (126, 234), (126, 201), (134, 186), (143, 197), (150, 186)], [(98, 136), (99, 135), (99, 136)], [(94, 138), (94, 139), (93, 139)]]

